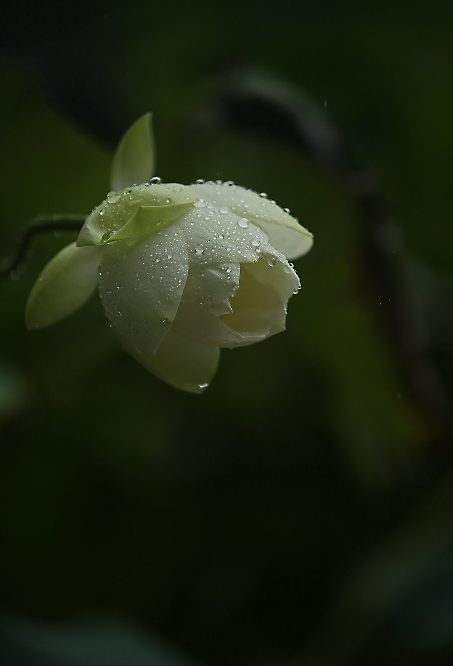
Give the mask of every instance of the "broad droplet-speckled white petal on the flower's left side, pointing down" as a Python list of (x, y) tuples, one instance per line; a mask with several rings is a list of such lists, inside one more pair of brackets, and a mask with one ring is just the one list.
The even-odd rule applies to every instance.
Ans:
[(117, 333), (155, 354), (175, 318), (189, 264), (173, 226), (138, 240), (104, 246), (99, 294)]

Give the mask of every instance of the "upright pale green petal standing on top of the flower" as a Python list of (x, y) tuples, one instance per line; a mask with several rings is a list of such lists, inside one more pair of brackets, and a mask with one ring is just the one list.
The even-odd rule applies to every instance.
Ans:
[(154, 173), (154, 137), (151, 113), (145, 113), (125, 133), (115, 157), (110, 178), (114, 192), (134, 184), (148, 182)]

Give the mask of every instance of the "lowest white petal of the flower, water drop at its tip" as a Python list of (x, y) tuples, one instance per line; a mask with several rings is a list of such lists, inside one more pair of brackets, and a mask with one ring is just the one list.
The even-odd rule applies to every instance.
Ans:
[(157, 354), (149, 356), (129, 340), (122, 340), (124, 349), (157, 377), (175, 388), (202, 393), (213, 380), (220, 360), (218, 347), (189, 340), (169, 330)]

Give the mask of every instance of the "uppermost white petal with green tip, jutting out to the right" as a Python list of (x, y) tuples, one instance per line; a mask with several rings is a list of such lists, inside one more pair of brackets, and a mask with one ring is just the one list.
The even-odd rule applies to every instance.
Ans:
[(268, 234), (270, 244), (288, 259), (302, 256), (312, 246), (312, 234), (296, 218), (253, 190), (215, 182), (187, 187), (215, 206), (227, 206), (236, 215), (254, 222)]

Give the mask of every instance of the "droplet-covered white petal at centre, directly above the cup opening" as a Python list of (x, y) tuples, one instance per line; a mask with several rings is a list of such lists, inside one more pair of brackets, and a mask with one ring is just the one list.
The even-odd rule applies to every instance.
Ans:
[(223, 210), (195, 207), (175, 222), (187, 240), (189, 259), (200, 264), (257, 261), (260, 248), (268, 244), (266, 234), (250, 222), (240, 226), (241, 218)]

